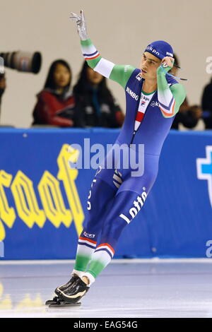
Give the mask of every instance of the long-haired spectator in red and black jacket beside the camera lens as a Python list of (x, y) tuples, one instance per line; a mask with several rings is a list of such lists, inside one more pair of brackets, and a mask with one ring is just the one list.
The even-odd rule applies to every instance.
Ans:
[(37, 95), (33, 125), (49, 124), (60, 127), (78, 126), (76, 104), (70, 90), (71, 69), (64, 60), (50, 66), (44, 90)]

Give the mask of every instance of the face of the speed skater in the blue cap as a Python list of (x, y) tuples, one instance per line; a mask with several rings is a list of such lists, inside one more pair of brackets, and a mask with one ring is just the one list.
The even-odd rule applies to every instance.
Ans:
[(141, 57), (141, 77), (145, 79), (156, 79), (157, 69), (160, 66), (160, 59), (149, 52), (144, 52)]

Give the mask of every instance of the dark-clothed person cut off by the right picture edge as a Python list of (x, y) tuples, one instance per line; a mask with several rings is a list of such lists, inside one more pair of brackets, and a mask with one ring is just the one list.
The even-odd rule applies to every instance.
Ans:
[(201, 98), (201, 107), (203, 109), (203, 118), (206, 129), (212, 129), (212, 78), (211, 82), (205, 86)]

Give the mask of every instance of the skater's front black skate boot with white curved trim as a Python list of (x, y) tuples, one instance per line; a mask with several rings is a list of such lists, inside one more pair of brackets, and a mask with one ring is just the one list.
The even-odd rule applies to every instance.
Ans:
[(61, 300), (65, 302), (69, 302), (70, 304), (77, 304), (81, 297), (86, 295), (89, 287), (86, 283), (81, 280), (81, 278), (77, 277), (76, 281), (71, 284), (70, 287), (66, 287), (66, 289), (58, 290), (58, 296)]

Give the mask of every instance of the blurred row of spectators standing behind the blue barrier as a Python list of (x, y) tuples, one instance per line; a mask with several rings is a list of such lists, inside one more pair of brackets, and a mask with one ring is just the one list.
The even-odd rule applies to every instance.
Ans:
[[(175, 64), (179, 61), (175, 54)], [(174, 66), (170, 73), (178, 76)], [(32, 126), (105, 127), (119, 128), (124, 122), (124, 112), (107, 87), (104, 76), (83, 63), (78, 81), (72, 88), (69, 64), (59, 59), (49, 68), (44, 88), (37, 94), (33, 109)], [(0, 104), (6, 89), (6, 78), (0, 75)], [(212, 79), (204, 87), (201, 105), (192, 105), (187, 97), (175, 116), (172, 129), (212, 129)]]

